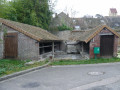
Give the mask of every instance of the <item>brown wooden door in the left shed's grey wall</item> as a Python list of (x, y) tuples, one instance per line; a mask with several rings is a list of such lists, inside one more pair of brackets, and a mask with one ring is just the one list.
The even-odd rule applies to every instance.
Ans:
[(17, 58), (18, 55), (18, 33), (7, 33), (4, 37), (4, 57)]

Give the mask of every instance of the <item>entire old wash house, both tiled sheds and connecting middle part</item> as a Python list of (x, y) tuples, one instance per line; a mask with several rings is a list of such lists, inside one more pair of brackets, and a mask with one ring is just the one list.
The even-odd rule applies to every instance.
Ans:
[(58, 38), (39, 27), (6, 19), (0, 22), (0, 58), (39, 60), (54, 57), (60, 50), (94, 58), (94, 47), (100, 47), (98, 57), (117, 56), (120, 35), (106, 25), (91, 30), (61, 31)]

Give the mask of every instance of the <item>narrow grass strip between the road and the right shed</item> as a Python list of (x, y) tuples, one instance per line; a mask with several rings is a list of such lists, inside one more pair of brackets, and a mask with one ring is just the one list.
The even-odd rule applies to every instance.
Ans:
[(53, 61), (51, 65), (79, 65), (79, 64), (97, 64), (97, 63), (113, 63), (120, 62), (119, 58), (110, 59), (90, 59), (90, 60), (59, 60)]

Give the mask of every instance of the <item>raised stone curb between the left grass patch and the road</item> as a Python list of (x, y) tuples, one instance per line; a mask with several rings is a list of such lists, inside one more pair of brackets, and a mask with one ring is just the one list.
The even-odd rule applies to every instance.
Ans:
[(23, 75), (23, 74), (26, 74), (26, 73), (38, 70), (38, 69), (45, 68), (50, 63), (51, 62), (48, 62), (47, 64), (44, 64), (42, 66), (34, 67), (34, 68), (31, 68), (31, 69), (23, 70), (23, 71), (20, 71), (20, 72), (16, 72), (16, 73), (13, 73), (13, 74), (10, 74), (10, 75), (6, 75), (6, 76), (3, 76), (3, 77), (0, 77), (0, 81), (7, 80), (7, 79), (10, 79), (10, 78), (13, 78), (13, 77), (16, 77), (16, 76), (20, 76), (20, 75)]

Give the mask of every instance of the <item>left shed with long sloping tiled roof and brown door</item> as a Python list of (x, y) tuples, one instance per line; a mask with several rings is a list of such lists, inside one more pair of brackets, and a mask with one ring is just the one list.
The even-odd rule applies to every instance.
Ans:
[(54, 56), (61, 40), (39, 27), (0, 19), (0, 58), (39, 60)]

